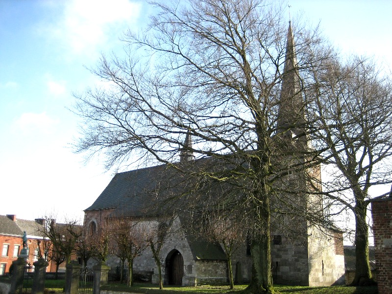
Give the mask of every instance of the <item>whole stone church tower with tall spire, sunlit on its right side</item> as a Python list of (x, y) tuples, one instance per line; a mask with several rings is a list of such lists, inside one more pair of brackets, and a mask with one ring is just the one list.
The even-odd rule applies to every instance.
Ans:
[[(323, 216), (322, 196), (314, 193), (321, 190), (320, 165), (310, 161), (312, 147), (306, 136), (303, 84), (291, 22), (281, 76), (276, 138), (282, 152), (279, 159), (286, 158), (282, 164), (287, 163), (284, 168), (292, 170), (276, 183), (283, 191), (279, 203), (284, 204), (276, 205), (281, 214), (276, 217), (276, 229), (271, 231), (274, 282), (307, 286), (340, 284), (344, 275), (342, 232), (336, 228), (322, 228), (323, 223), (317, 222)], [(299, 162), (306, 162), (309, 168)], [(296, 252), (295, 262), (290, 260), (293, 252)]]

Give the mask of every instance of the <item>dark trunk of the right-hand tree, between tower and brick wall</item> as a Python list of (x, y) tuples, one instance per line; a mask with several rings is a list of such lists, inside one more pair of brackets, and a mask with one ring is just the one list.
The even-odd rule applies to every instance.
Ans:
[(367, 203), (357, 200), (355, 206), (355, 276), (351, 286), (374, 283), (369, 265), (368, 224), (366, 223)]

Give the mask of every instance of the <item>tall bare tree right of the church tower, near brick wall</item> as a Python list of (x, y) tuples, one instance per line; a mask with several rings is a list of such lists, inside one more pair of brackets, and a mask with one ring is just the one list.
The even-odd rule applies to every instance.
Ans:
[[(367, 208), (369, 189), (390, 184), (392, 155), (391, 77), (371, 60), (354, 57), (314, 72), (313, 142), (322, 160), (335, 168), (324, 182), (338, 211), (355, 217), (356, 271), (352, 285), (370, 283)], [(336, 172), (339, 171), (339, 172)], [(385, 193), (385, 196), (388, 195)]]

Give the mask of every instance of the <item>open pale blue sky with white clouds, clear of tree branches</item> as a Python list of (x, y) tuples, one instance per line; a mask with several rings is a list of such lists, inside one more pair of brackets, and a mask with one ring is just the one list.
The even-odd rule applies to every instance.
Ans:
[[(287, 1), (286, 1), (287, 2)], [(392, 1), (290, 0), (344, 54), (392, 66)], [(150, 8), (131, 0), (0, 0), (0, 215), (83, 218), (113, 171), (87, 165), (70, 144), (78, 118), (73, 92), (98, 83), (85, 67), (120, 51), (127, 28)]]

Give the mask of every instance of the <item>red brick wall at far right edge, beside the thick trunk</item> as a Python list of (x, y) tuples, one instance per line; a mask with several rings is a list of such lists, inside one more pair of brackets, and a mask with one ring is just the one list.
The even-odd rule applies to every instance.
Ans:
[(379, 294), (392, 293), (392, 198), (372, 201), (371, 216)]

